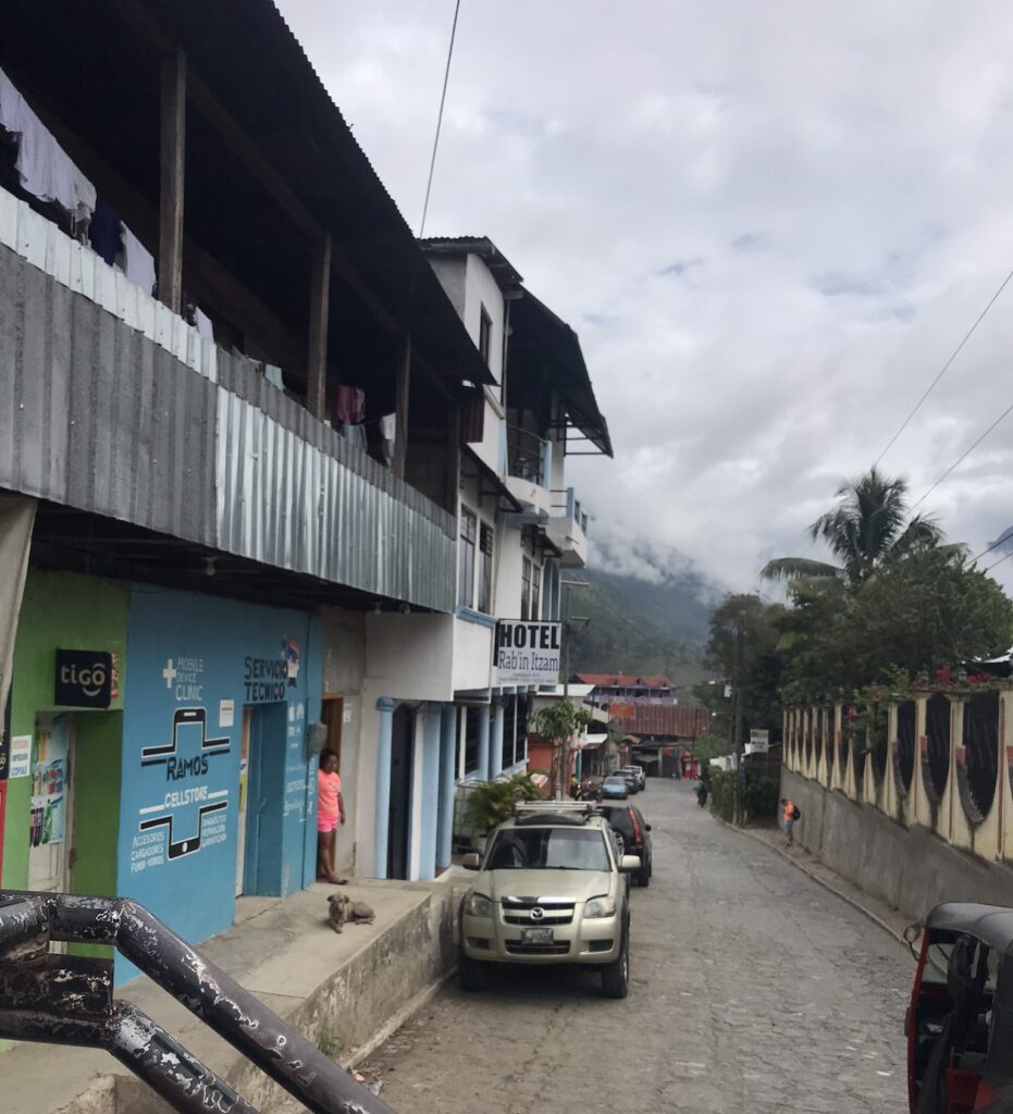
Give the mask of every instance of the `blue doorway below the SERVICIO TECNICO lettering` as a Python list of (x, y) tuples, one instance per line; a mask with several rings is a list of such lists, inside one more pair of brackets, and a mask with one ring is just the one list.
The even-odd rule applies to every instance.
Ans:
[[(243, 709), (236, 890), (276, 897), (282, 886), (288, 704)], [(245, 761), (245, 785), (243, 763)]]

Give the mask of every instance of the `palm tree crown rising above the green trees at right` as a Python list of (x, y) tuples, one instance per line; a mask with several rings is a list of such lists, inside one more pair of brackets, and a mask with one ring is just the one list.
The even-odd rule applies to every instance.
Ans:
[(905, 557), (936, 546), (943, 531), (923, 515), (907, 518), (907, 481), (890, 479), (870, 468), (837, 489), (840, 500), (809, 527), (816, 541), (822, 538), (839, 564), (806, 557), (778, 557), (761, 571), (768, 580), (786, 580), (793, 590), (830, 585), (854, 587), (867, 579), (887, 559)]

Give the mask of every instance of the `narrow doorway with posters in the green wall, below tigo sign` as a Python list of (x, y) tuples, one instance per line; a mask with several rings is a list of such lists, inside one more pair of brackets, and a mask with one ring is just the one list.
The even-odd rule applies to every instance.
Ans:
[(39, 712), (31, 744), (30, 890), (70, 890), (75, 765), (74, 716)]

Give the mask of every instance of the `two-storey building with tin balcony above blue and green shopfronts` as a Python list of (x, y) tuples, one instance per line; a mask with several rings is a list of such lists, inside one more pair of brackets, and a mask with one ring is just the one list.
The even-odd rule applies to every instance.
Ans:
[(323, 742), (371, 834), (496, 380), (270, 0), (3, 4), (0, 69), (0, 882), (199, 940), (313, 881)]

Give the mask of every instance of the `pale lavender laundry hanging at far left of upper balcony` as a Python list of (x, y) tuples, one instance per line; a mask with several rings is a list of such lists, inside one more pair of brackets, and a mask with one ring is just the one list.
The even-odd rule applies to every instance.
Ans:
[(75, 225), (87, 225), (95, 212), (95, 186), (3, 70), (0, 70), (0, 125), (17, 137), (14, 167), (22, 188), (39, 201), (56, 202), (70, 214)]

